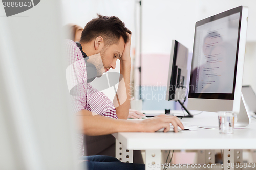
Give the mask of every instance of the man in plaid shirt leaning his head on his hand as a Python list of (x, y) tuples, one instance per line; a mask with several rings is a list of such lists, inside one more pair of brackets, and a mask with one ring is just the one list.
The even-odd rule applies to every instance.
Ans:
[[(114, 69), (117, 59), (120, 60), (120, 74), (122, 75), (112, 103), (103, 93), (87, 83), (88, 73), (83, 55), (73, 41), (67, 43), (68, 62), (69, 68), (71, 68), (69, 70), (75, 70), (75, 74), (73, 76), (71, 74), (69, 77), (79, 87), (76, 89), (76, 95), (73, 96), (73, 108), (81, 134), (94, 136), (116, 132), (155, 132), (161, 128), (165, 128), (164, 132), (166, 132), (170, 128), (169, 123), (173, 124), (175, 132), (177, 132), (177, 126), (184, 128), (175, 116), (161, 115), (139, 122), (126, 120), (130, 108), (131, 31), (125, 27), (121, 20), (115, 16), (98, 15), (98, 18), (91, 20), (84, 27), (79, 42), (83, 52), (89, 56), (87, 62), (96, 66), (97, 77), (100, 77), (103, 72), (107, 72), (110, 68)], [(99, 61), (99, 57), (102, 62)], [(71, 88), (69, 89), (71, 90)], [(79, 135), (79, 155), (83, 155), (82, 140), (83, 135)], [(138, 164), (117, 162), (118, 160), (115, 158), (110, 158), (110, 161), (102, 161), (101, 158), (101, 161), (98, 161), (91, 158), (87, 157), (89, 162), (86, 163), (92, 169), (102, 166), (104, 169), (113, 169), (114, 167), (116, 169), (144, 168)]]

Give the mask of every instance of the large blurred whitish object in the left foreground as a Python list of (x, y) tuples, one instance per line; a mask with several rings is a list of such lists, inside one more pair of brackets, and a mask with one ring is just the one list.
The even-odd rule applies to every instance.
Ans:
[(0, 17), (0, 169), (76, 169), (60, 8)]

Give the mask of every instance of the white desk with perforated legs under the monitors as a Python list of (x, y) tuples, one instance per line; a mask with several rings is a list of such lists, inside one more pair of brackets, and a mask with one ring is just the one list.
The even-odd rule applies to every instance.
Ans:
[[(192, 114), (195, 113), (197, 112)], [(183, 118), (182, 121), (191, 125), (218, 126), (217, 113), (203, 112), (202, 114), (194, 116), (194, 118)], [(256, 149), (256, 119), (252, 118), (252, 123), (246, 129), (234, 129), (233, 134), (220, 134), (217, 129), (198, 128), (197, 131), (182, 131), (179, 133), (122, 132), (112, 135), (121, 143), (117, 142), (116, 145), (117, 150), (120, 150), (120, 148), (122, 150), (123, 162), (132, 162), (131, 154), (129, 156), (129, 153), (132, 153), (131, 150), (146, 150), (146, 169), (160, 169), (150, 168), (148, 165), (152, 162), (160, 164), (161, 150), (225, 149), (225, 151), (231, 150), (232, 157), (228, 159), (231, 159), (231, 162), (236, 162), (237, 156), (236, 153), (234, 153), (236, 150)], [(127, 153), (126, 150), (129, 150), (129, 153)], [(232, 168), (230, 169), (232, 170)]]

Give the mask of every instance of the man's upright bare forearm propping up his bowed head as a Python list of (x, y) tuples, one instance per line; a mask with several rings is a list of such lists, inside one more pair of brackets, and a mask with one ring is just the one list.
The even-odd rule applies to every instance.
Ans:
[(114, 98), (114, 106), (116, 107), (116, 114), (119, 119), (127, 119), (130, 108), (130, 72), (131, 60), (120, 61), (120, 74), (123, 80), (119, 82), (116, 96)]

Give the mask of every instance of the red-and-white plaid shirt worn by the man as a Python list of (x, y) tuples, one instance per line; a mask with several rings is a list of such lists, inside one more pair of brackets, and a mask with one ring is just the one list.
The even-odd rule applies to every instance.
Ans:
[[(80, 49), (76, 44), (67, 40), (66, 55), (68, 57), (68, 68), (66, 77), (68, 88), (72, 91), (73, 112), (89, 110), (102, 116), (117, 118), (116, 109), (112, 101), (87, 83), (86, 64)], [(78, 155), (84, 154), (83, 135), (77, 135)]]

